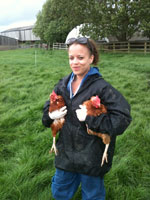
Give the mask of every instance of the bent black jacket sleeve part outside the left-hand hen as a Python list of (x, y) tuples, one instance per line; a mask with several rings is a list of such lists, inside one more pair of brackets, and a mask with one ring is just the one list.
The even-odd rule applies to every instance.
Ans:
[(50, 101), (46, 101), (44, 108), (43, 108), (43, 117), (42, 117), (42, 123), (45, 127), (50, 128), (51, 123), (53, 120), (49, 117), (48, 112), (49, 112), (49, 105)]

